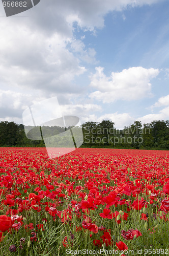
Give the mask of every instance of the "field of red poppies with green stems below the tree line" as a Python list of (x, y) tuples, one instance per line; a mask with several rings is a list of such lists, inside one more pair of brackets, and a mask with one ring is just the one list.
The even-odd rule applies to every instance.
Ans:
[(0, 148), (1, 255), (166, 255), (169, 152)]

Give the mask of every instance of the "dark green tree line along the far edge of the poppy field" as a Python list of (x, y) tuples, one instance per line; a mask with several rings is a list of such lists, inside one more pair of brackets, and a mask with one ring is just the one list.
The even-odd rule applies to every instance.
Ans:
[[(33, 130), (32, 128), (32, 126), (24, 127), (23, 124), (16, 124), (15, 122), (1, 121), (0, 146), (45, 147), (41, 129), (35, 127)], [(42, 127), (48, 137), (63, 133), (70, 128), (60, 126)], [(81, 128), (83, 133), (81, 147), (169, 150), (168, 120), (154, 120), (143, 125), (140, 121), (134, 121), (133, 124), (125, 126), (122, 130), (116, 129), (115, 123), (109, 120), (89, 121), (83, 123)], [(27, 137), (25, 135), (26, 129), (28, 131)], [(31, 134), (32, 131), (33, 135)]]

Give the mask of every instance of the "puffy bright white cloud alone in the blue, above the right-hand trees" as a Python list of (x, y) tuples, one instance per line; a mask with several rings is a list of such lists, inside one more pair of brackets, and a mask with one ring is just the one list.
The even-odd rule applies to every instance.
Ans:
[(90, 94), (91, 98), (105, 102), (116, 100), (137, 100), (151, 96), (150, 79), (159, 74), (158, 69), (132, 67), (122, 72), (112, 72), (110, 77), (103, 73), (103, 68), (97, 67), (91, 76), (91, 86), (97, 88)]

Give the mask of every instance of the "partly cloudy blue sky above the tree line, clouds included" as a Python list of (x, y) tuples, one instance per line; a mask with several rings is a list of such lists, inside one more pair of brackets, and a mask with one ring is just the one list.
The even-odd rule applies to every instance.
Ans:
[(81, 123), (169, 120), (168, 13), (168, 0), (41, 0), (6, 17), (0, 3), (0, 121), (51, 97)]

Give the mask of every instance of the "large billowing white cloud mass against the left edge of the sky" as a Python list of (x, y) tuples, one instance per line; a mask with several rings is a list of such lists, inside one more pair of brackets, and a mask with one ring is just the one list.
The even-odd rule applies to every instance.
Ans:
[[(4, 25), (9, 26), (7, 30)], [(8, 21), (0, 25), (0, 82), (11, 87), (75, 92), (72, 81), (86, 69), (66, 49), (64, 38), (58, 33), (45, 37), (16, 22), (15, 30), (10, 25)]]

